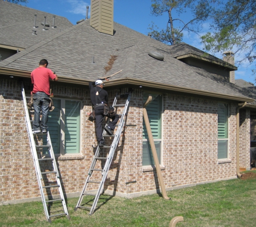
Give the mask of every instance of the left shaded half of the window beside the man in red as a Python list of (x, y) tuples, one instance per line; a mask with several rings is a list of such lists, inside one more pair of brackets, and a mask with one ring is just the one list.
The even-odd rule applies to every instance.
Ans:
[[(48, 117), (48, 131), (50, 133), (52, 147), (54, 154), (60, 153), (60, 100), (53, 100), (54, 110), (49, 112)], [(46, 137), (44, 137), (44, 144), (46, 144)], [(44, 148), (44, 153), (47, 149)]]

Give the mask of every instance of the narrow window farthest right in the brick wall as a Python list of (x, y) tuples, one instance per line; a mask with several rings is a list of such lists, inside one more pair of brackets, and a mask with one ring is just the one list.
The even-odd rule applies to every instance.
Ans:
[(229, 105), (218, 103), (218, 159), (226, 159), (229, 144)]

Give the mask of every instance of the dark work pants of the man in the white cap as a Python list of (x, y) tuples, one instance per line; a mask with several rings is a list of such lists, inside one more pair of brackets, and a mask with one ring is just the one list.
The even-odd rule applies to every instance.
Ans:
[[(103, 127), (102, 127), (102, 123), (103, 123), (103, 119), (104, 119), (104, 107), (98, 107), (94, 109), (95, 112), (95, 121), (96, 121), (96, 136), (97, 136), (97, 140), (102, 141), (103, 137), (102, 137), (102, 133), (103, 133)], [(108, 126), (110, 127), (111, 130), (115, 129), (115, 125), (118, 122), (119, 116), (117, 114), (114, 115), (114, 117), (110, 118), (112, 119), (111, 122), (109, 122)]]

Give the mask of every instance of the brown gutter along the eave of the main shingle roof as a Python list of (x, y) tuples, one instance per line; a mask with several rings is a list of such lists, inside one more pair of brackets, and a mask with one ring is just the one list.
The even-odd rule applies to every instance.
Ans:
[[(25, 77), (25, 78), (31, 77), (31, 72), (29, 72), (29, 71), (2, 68), (2, 67), (0, 67), (0, 74)], [(63, 83), (80, 84), (80, 85), (88, 86), (90, 81), (83, 80), (83, 79), (75, 79), (75, 78), (70, 78), (70, 77), (63, 77), (63, 76), (58, 75), (58, 82), (63, 82)], [(123, 78), (123, 79), (119, 79), (119, 80), (111, 80), (111, 81), (105, 82), (106, 88), (127, 87), (127, 86), (133, 87), (133, 88), (141, 88), (141, 89), (161, 90), (164, 92), (169, 91), (169, 92), (177, 92), (177, 93), (184, 93), (184, 94), (191, 94), (191, 95), (206, 96), (206, 97), (211, 97), (211, 98), (213, 98), (213, 97), (221, 98), (221, 99), (225, 99), (225, 100), (232, 100), (232, 101), (238, 101), (238, 102), (253, 102), (254, 101), (253, 98), (225, 95), (225, 94), (219, 94), (219, 93), (211, 93), (209, 91), (191, 89), (191, 88), (186, 88), (186, 87), (178, 87), (178, 86), (172, 86), (172, 85), (164, 84), (164, 83), (157, 83), (157, 82), (152, 82), (152, 81), (142, 81), (142, 80), (131, 79), (131, 78)]]

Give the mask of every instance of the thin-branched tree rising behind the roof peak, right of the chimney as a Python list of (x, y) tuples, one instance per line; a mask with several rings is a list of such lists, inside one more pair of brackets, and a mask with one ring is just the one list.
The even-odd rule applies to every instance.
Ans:
[[(198, 33), (201, 30), (201, 24), (210, 16), (210, 7), (208, 1), (193, 1), (193, 0), (151, 0), (151, 15), (162, 16), (163, 13), (168, 14), (167, 26), (159, 31), (158, 27), (151, 24), (151, 37), (164, 42), (165, 44), (174, 45), (182, 41), (183, 31)], [(200, 11), (202, 8), (207, 11)], [(207, 6), (206, 6), (207, 5)], [(183, 13), (191, 12), (192, 19), (187, 21), (181, 18), (173, 18), (173, 12), (178, 16)]]

